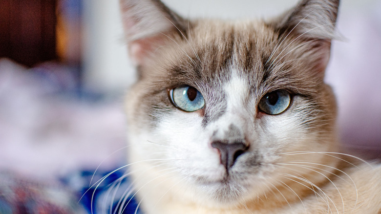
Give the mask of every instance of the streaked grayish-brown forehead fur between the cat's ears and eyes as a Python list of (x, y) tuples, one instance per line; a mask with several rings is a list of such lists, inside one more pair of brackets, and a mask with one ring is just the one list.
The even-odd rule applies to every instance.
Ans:
[(196, 21), (190, 26), (187, 40), (173, 36), (176, 42), (158, 49), (163, 54), (154, 64), (162, 72), (152, 73), (150, 79), (167, 87), (187, 84), (206, 90), (229, 82), (235, 70), (253, 91), (284, 88), (304, 95), (322, 84), (320, 40), (279, 38), (262, 22)]

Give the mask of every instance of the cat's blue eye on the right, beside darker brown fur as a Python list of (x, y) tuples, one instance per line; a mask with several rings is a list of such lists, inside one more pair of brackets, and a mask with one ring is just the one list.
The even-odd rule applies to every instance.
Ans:
[(291, 103), (290, 93), (286, 90), (276, 90), (265, 94), (259, 101), (259, 110), (275, 115), (285, 111)]

